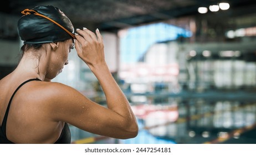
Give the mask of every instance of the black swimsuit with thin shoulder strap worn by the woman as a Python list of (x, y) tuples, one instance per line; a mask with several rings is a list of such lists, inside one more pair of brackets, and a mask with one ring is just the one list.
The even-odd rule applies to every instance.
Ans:
[[(13, 96), (16, 94), (16, 92), (24, 85), (26, 84), (27, 82), (29, 81), (41, 81), (39, 79), (29, 79), (25, 82), (23, 82), (21, 85), (18, 86), (18, 88), (14, 91), (10, 101), (9, 101), (9, 104), (7, 106), (7, 110), (6, 110), (6, 113), (4, 115), (4, 118), (3, 118), (3, 122), (2, 122), (2, 125), (0, 126), (0, 144), (13, 144), (13, 142), (9, 141), (6, 137), (6, 123), (7, 123), (7, 117), (8, 117), (8, 113), (9, 113), (9, 108), (11, 106), (11, 102), (12, 102), (12, 99), (13, 99)], [(60, 137), (59, 139), (55, 142), (55, 144), (70, 144), (71, 142), (71, 135), (70, 135), (70, 130), (69, 130), (69, 126), (67, 123), (65, 123), (64, 127), (63, 127), (63, 130), (62, 130), (62, 133), (60, 134)]]

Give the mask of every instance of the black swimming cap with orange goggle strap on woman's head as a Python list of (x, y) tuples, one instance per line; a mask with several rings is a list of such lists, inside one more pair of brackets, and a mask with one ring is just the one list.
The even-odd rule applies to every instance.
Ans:
[(74, 38), (74, 27), (69, 18), (53, 6), (25, 9), (18, 20), (18, 34), (24, 44), (60, 42)]

